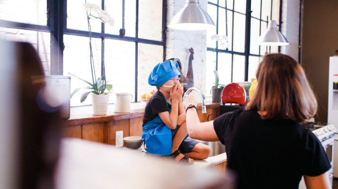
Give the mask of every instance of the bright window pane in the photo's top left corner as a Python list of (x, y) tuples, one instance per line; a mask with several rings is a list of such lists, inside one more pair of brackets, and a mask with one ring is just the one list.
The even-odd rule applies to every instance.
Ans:
[(3, 20), (47, 25), (47, 0), (1, 0), (0, 10)]

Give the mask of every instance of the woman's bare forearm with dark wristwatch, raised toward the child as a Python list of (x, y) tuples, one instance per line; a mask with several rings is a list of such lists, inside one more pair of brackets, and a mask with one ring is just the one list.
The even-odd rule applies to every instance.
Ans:
[[(184, 104), (188, 106), (193, 104), (197, 106), (195, 98), (191, 95), (186, 95)], [(195, 108), (189, 108), (186, 111), (186, 127), (191, 138), (204, 141), (218, 141), (214, 129), (214, 121), (200, 122)]]

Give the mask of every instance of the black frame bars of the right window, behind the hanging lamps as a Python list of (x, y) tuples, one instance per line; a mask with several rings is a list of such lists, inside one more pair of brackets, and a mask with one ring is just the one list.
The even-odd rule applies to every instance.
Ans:
[[(229, 53), (231, 54), (231, 83), (233, 82), (233, 75), (234, 75), (234, 55), (242, 55), (242, 56), (245, 56), (245, 78), (244, 78), (244, 81), (248, 81), (248, 75), (249, 75), (249, 56), (257, 56), (257, 57), (260, 57), (262, 56), (260, 54), (260, 46), (259, 46), (259, 51), (258, 51), (258, 54), (251, 54), (250, 53), (250, 34), (251, 34), (251, 19), (254, 18), (254, 19), (257, 19), (259, 20), (259, 35), (261, 35), (261, 24), (262, 23), (265, 23), (266, 26), (267, 26), (267, 23), (268, 23), (268, 17), (266, 18), (266, 20), (264, 20), (262, 17), (261, 17), (261, 14), (262, 14), (262, 10), (261, 10), (261, 7), (262, 7), (262, 0), (260, 0), (260, 17), (259, 18), (256, 18), (254, 16), (251, 15), (251, 1), (252, 0), (247, 0), (246, 1), (246, 13), (243, 13), (243, 12), (239, 12), (239, 11), (236, 11), (235, 10), (235, 0), (232, 0), (233, 1), (233, 7), (232, 8), (228, 8), (227, 7), (227, 1), (228, 0), (225, 0), (225, 7), (224, 6), (221, 6), (219, 5), (219, 1), (220, 0), (217, 0), (217, 3), (214, 3), (214, 2), (210, 2), (208, 1), (208, 4), (211, 4), (211, 5), (214, 5), (216, 6), (217, 8), (217, 20), (216, 20), (216, 34), (218, 34), (218, 16), (219, 16), (219, 8), (223, 8), (225, 9), (225, 15), (226, 15), (226, 36), (228, 36), (228, 11), (231, 11), (232, 12), (232, 36), (231, 36), (231, 49), (232, 50), (228, 50), (228, 49), (218, 49), (218, 42), (216, 41), (216, 47), (215, 48), (212, 48), (212, 47), (207, 47), (207, 51), (211, 51), (211, 52), (215, 52), (216, 53), (216, 70), (218, 70), (218, 53), (221, 52), (221, 53)], [(272, 18), (272, 5), (273, 5), (273, 0), (271, 0), (271, 9), (270, 9), (270, 19)], [(234, 14), (236, 13), (239, 13), (239, 14), (242, 14), (242, 15), (245, 15), (246, 16), (246, 25), (245, 25), (245, 47), (244, 47), (244, 52), (237, 52), (237, 51), (234, 51)], [(277, 24), (277, 26), (279, 27), (279, 31), (281, 31), (281, 17), (282, 17), (282, 0), (280, 0), (279, 2), (279, 24)], [(268, 48), (268, 47), (266, 47)], [(267, 49), (268, 52), (271, 52), (271, 47), (269, 47)], [(266, 51), (266, 52), (267, 52)], [(280, 47), (278, 47), (278, 52), (280, 52)]]

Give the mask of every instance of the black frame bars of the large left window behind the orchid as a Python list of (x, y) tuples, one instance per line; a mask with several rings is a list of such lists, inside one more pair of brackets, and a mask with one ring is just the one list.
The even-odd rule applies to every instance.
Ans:
[[(101, 0), (101, 8), (104, 9), (104, 1)], [(124, 0), (122, 0), (124, 2)], [(101, 32), (92, 32), (92, 38), (114, 39), (135, 42), (135, 99), (138, 102), (138, 44), (151, 44), (163, 46), (163, 61), (166, 58), (166, 39), (167, 39), (167, 0), (162, 0), (162, 40), (151, 40), (138, 37), (138, 18), (139, 18), (139, 0), (136, 0), (136, 23), (135, 37), (124, 36), (123, 34), (114, 35), (103, 33), (103, 23), (101, 24)], [(89, 32), (84, 30), (68, 29), (67, 28), (67, 0), (47, 0), (47, 25), (38, 25), (30, 23), (22, 23), (0, 19), (0, 27), (32, 30), (37, 32), (49, 32), (51, 35), (50, 41), (50, 74), (63, 75), (63, 51), (64, 35), (75, 35), (89, 37)], [(123, 11), (124, 13), (124, 11)], [(121, 28), (122, 29), (122, 28)], [(104, 53), (101, 53), (102, 60)]]

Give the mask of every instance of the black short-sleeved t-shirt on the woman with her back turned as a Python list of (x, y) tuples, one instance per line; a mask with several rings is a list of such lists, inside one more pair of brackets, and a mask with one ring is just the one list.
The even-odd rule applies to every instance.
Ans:
[(227, 167), (237, 175), (238, 189), (298, 189), (303, 175), (331, 168), (318, 138), (290, 119), (236, 110), (217, 117), (214, 129), (226, 145)]

